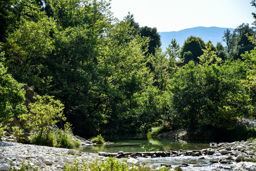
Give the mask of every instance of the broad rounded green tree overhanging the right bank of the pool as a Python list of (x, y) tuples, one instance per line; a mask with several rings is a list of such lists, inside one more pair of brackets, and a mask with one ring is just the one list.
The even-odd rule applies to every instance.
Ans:
[(233, 129), (234, 119), (252, 112), (250, 96), (240, 82), (246, 72), (239, 61), (221, 66), (189, 62), (171, 81), (171, 122), (188, 129), (200, 123)]

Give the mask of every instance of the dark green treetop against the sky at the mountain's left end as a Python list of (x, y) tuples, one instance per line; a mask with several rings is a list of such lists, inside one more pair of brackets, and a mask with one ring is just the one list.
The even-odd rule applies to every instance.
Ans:
[(157, 32), (157, 28), (151, 28), (148, 26), (141, 27), (139, 30), (139, 34), (142, 37), (148, 37), (150, 39), (148, 43), (148, 50), (146, 51), (146, 55), (153, 54), (156, 52), (156, 48), (160, 48), (162, 45), (161, 43), (161, 36)]

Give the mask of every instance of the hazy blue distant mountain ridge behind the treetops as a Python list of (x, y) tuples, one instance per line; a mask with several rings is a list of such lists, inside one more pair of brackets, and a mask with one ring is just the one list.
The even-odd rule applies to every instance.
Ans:
[(222, 42), (222, 37), (224, 31), (229, 29), (232, 33), (234, 29), (232, 28), (221, 28), (221, 27), (194, 27), (190, 29), (183, 29), (178, 32), (158, 32), (161, 35), (163, 51), (166, 50), (166, 47), (171, 43), (172, 39), (176, 39), (177, 43), (180, 44), (180, 47), (183, 46), (184, 41), (189, 36), (196, 36), (202, 38), (205, 43), (211, 41), (214, 46), (217, 42), (220, 41), (223, 46), (226, 46), (226, 43)]

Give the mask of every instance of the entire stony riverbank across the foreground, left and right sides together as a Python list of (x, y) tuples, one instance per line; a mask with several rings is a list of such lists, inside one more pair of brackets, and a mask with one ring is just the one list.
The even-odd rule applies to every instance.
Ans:
[[(47, 171), (62, 170), (65, 163), (68, 165), (74, 164), (74, 157), (77, 156), (79, 164), (93, 161), (104, 162), (107, 157), (123, 158), (128, 157), (127, 165), (134, 163), (141, 165), (140, 159), (150, 159), (157, 157), (195, 157), (197, 160), (209, 159), (210, 165), (218, 165), (218, 169), (227, 169), (234, 171), (255, 171), (256, 163), (256, 145), (253, 142), (241, 141), (232, 143), (211, 143), (212, 147), (200, 151), (151, 151), (151, 152), (129, 152), (124, 153), (105, 153), (99, 154), (84, 153), (81, 151), (69, 150), (65, 148), (53, 148), (38, 145), (21, 144), (17, 142), (0, 141), (0, 171), (8, 171), (12, 167), (20, 167), (22, 163), (30, 164), (35, 168), (41, 168)], [(121, 160), (123, 161), (123, 160)], [(222, 164), (222, 165), (221, 165)], [(225, 164), (230, 164), (225, 166)], [(183, 171), (191, 166), (190, 163), (182, 163), (172, 169), (182, 169)], [(200, 168), (202, 165), (192, 165), (192, 167)], [(160, 168), (170, 167), (170, 165), (162, 165)], [(150, 166), (149, 168), (158, 170), (159, 167)], [(212, 167), (213, 168), (213, 167)], [(244, 170), (243, 170), (244, 169)], [(195, 169), (198, 170), (198, 169)], [(181, 171), (181, 170), (180, 170)], [(193, 170), (191, 170), (193, 171)]]

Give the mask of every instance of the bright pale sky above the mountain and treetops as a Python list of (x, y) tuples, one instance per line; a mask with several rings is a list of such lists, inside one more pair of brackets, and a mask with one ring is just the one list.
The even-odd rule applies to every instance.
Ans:
[(197, 26), (236, 28), (253, 23), (251, 0), (112, 0), (113, 16), (122, 20), (128, 12), (140, 26), (158, 32), (179, 31)]

